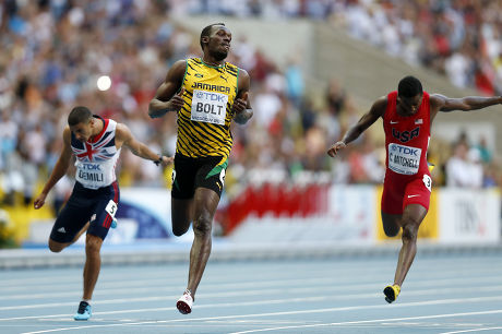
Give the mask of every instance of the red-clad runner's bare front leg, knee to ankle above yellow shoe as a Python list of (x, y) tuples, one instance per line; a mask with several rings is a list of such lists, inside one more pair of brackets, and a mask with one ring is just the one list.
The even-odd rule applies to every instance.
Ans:
[(401, 226), (403, 227), (403, 246), (397, 260), (394, 284), (399, 287), (405, 281), (406, 274), (414, 262), (417, 253), (418, 228), (427, 215), (427, 210), (420, 204), (409, 204), (403, 212)]

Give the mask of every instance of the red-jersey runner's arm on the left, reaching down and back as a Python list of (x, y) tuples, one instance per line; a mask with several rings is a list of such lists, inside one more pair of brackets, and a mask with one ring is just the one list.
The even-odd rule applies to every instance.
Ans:
[(383, 116), (383, 114), (385, 112), (386, 105), (387, 105), (386, 96), (382, 96), (381, 98), (375, 100), (373, 106), (371, 106), (370, 111), (362, 115), (359, 121), (347, 130), (342, 141), (334, 143), (330, 147), (330, 150), (327, 151), (327, 155), (330, 155), (331, 157), (334, 157), (338, 153), (339, 150), (345, 148), (345, 146), (347, 146), (348, 143), (358, 139), (362, 132), (364, 132), (380, 117)]

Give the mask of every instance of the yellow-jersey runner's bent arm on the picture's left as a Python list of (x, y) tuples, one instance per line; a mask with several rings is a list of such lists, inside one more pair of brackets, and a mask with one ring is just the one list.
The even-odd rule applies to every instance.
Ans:
[[(183, 83), (187, 60), (178, 60), (167, 72), (166, 79), (158, 87), (157, 93), (148, 105), (148, 115), (151, 118), (158, 118), (168, 111), (179, 111), (184, 104), (183, 90), (180, 91)], [(178, 94), (176, 94), (178, 92)]]

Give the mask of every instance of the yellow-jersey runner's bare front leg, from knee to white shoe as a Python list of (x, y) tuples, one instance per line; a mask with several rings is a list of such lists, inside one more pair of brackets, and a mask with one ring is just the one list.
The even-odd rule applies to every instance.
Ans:
[(213, 190), (198, 188), (193, 205), (193, 243), (190, 250), (190, 271), (188, 289), (194, 298), (205, 265), (211, 253), (211, 230), (213, 217), (219, 203), (219, 196)]

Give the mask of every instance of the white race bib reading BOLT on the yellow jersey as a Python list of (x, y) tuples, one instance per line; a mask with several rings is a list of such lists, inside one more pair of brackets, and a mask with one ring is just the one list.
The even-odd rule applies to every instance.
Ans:
[(193, 90), (191, 120), (225, 126), (228, 95)]

